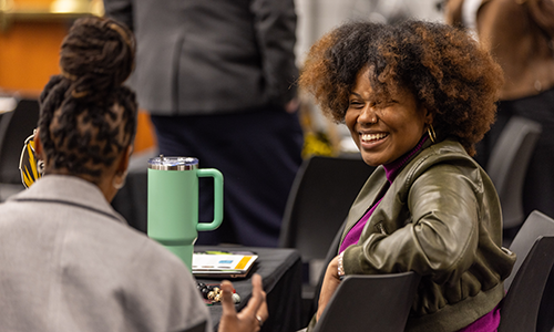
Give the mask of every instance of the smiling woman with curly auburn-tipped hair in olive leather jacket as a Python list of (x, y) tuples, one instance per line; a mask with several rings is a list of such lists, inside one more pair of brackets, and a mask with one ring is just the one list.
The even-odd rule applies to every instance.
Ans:
[(490, 54), (445, 24), (353, 22), (314, 44), (300, 87), (379, 167), (351, 206), (308, 330), (341, 276), (403, 271), (422, 277), (407, 331), (496, 330), (515, 256), (501, 247), (499, 197), (471, 156), (502, 82)]

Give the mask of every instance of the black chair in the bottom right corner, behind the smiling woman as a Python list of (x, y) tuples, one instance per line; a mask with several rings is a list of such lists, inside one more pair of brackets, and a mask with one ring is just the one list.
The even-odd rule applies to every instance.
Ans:
[[(554, 266), (554, 220), (533, 211), (515, 236), (510, 250), (517, 256), (512, 274), (504, 281), (500, 332), (537, 331), (543, 310), (552, 317), (553, 298), (543, 297)], [(543, 326), (550, 331), (552, 325)]]

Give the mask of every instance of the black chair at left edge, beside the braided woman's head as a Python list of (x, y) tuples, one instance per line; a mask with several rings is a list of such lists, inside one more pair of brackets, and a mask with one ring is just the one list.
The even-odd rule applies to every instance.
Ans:
[(0, 201), (24, 189), (19, 159), (27, 137), (37, 127), (39, 112), (37, 100), (24, 98), (0, 120)]

